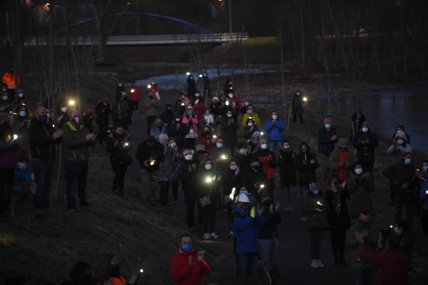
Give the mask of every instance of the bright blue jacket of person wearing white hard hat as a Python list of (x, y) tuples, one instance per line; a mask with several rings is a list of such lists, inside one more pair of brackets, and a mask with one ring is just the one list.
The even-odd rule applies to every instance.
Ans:
[(257, 244), (259, 242), (257, 228), (263, 226), (264, 223), (265, 218), (263, 216), (256, 216), (253, 219), (238, 207), (232, 210), (229, 225), (235, 241), (235, 254), (257, 252)]

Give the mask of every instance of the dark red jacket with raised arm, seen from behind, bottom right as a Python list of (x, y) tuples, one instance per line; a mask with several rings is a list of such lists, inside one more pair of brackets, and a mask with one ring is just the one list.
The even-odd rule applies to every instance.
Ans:
[(360, 257), (364, 261), (377, 264), (377, 285), (409, 284), (409, 258), (399, 249), (370, 253), (363, 243), (358, 246)]

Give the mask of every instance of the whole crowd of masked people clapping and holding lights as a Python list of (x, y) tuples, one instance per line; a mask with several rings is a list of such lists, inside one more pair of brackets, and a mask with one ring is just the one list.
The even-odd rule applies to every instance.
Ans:
[[(5, 74), (0, 106), (2, 213), (6, 214), (11, 195), (24, 191), (14, 187), (14, 183), (20, 181), (33, 180), (37, 185), (34, 207), (49, 208), (56, 148), (60, 144), (65, 158), (69, 211), (78, 209), (76, 189), (80, 209), (89, 207), (88, 160), (90, 147), (96, 145), (105, 145), (110, 154), (114, 173), (112, 191), (125, 196), (125, 173), (133, 160), (129, 153), (133, 148), (129, 126), (132, 115), (141, 111), (139, 100), (143, 93), (135, 82), (128, 92), (122, 82), (118, 82), (111, 107), (109, 97), (104, 97), (96, 104), (95, 111), (88, 109), (83, 115), (59, 101), (59, 116), (52, 118), (48, 100), (47, 104), (37, 104), (34, 113), (21, 96), (21, 89), (15, 100), (16, 92), (12, 89), (18, 86), (13, 80), (18, 78), (16, 84), (19, 84), (19, 77), (13, 76), (13, 72), (10, 68)], [(333, 265), (347, 266), (345, 250), (350, 250), (355, 284), (374, 284), (376, 269), (378, 284), (407, 282), (414, 214), (420, 217), (423, 231), (428, 234), (428, 182), (425, 180), (428, 160), (419, 166), (421, 170), (413, 164), (410, 136), (404, 126), (397, 126), (391, 146), (384, 150), (392, 159), (382, 174), (390, 181), (392, 201), (389, 204), (395, 207), (395, 215), (392, 228), (380, 230), (372, 223), (376, 207), (371, 198), (375, 190), (373, 169), (379, 140), (361, 110), (352, 116), (355, 127), (349, 142), (345, 134), (337, 132), (331, 118), (320, 122), (322, 125), (314, 133), (318, 137), (316, 154), (307, 142), (292, 142), (284, 137), (285, 122), (278, 112), (271, 110), (268, 118), (262, 118), (249, 99), (238, 99), (229, 79), (224, 85), (224, 94), (206, 103), (205, 100), (211, 98), (208, 73), (204, 72), (200, 78), (200, 91), (196, 90), (197, 83), (190, 74), (187, 94), (181, 93), (175, 102), (162, 100), (162, 104), (166, 104), (161, 115), (158, 115), (160, 89), (154, 79), (146, 92), (143, 106), (147, 137), (136, 146), (135, 155), (140, 164), (139, 195), (143, 203), (168, 206), (171, 185), (172, 203), (177, 204), (181, 182), (187, 226), (193, 231), (195, 225), (199, 225), (204, 232), (202, 239), (219, 237), (217, 211), (228, 212), (229, 237), (233, 239), (236, 257), (236, 284), (253, 284), (254, 276), (262, 282), (266, 273), (276, 282), (279, 279), (279, 212), (294, 212), (293, 191), (298, 185), (300, 221), (307, 222), (309, 231), (310, 266), (324, 267), (321, 241), (329, 229)], [(131, 94), (129, 99), (128, 94)], [(297, 115), (303, 124), (302, 103), (301, 91), (296, 91), (292, 100), (293, 124)], [(266, 121), (264, 125), (261, 119)], [(25, 177), (14, 175), (21, 171)], [(283, 203), (273, 201), (278, 191), (282, 192)], [(401, 219), (403, 206), (407, 220)], [(179, 250), (171, 260), (175, 284), (200, 284), (201, 276), (211, 272), (204, 253), (193, 250), (192, 244), (192, 237), (183, 235)], [(86, 274), (87, 265), (80, 265), (82, 274)], [(109, 276), (113, 284), (134, 284), (137, 280), (136, 274), (125, 280), (119, 273), (116, 257), (110, 254), (102, 256), (93, 280), (73, 284), (95, 284), (95, 281), (103, 284)]]

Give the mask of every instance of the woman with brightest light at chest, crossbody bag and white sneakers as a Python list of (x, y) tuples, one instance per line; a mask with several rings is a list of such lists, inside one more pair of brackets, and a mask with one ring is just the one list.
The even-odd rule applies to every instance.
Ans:
[(220, 186), (223, 184), (222, 176), (216, 170), (215, 162), (210, 157), (202, 160), (197, 176), (199, 189), (199, 203), (201, 203), (202, 224), (204, 239), (218, 238), (214, 231), (215, 214), (221, 209)]

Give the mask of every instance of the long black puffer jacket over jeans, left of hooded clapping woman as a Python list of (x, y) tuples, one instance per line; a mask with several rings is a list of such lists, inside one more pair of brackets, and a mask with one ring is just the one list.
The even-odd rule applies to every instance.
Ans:
[(297, 171), (294, 167), (296, 153), (293, 150), (293, 146), (290, 146), (287, 150), (280, 148), (278, 151), (279, 185), (281, 187), (297, 185)]

